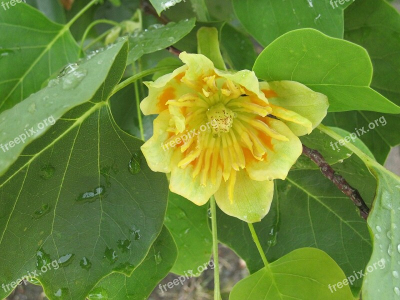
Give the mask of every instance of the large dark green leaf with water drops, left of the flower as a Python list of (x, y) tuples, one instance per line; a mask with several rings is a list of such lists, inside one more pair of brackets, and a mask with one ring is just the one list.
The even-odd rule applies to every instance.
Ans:
[[(103, 53), (91, 60), (113, 64), (96, 91), (28, 144), (0, 177), (0, 281), (37, 270), (34, 277), (49, 299), (83, 300), (109, 273), (130, 274), (160, 232), (166, 210), (165, 176), (148, 168), (142, 141), (119, 129), (109, 108), (127, 43)], [(83, 80), (74, 82), (67, 74), (31, 97), (50, 98), (57, 88), (57, 98), (73, 97), (89, 74), (101, 78), (96, 67), (85, 68)], [(96, 87), (87, 83), (89, 90)], [(60, 267), (44, 272), (54, 260)], [(9, 292), (1, 289), (0, 297)]]

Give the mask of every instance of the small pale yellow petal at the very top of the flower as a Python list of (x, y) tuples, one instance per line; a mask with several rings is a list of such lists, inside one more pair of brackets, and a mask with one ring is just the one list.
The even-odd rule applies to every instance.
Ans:
[(210, 76), (214, 72), (214, 64), (202, 54), (192, 54), (183, 51), (179, 54), (179, 58), (187, 65), (187, 72), (184, 76), (187, 80), (198, 81), (199, 77), (202, 80), (202, 77)]

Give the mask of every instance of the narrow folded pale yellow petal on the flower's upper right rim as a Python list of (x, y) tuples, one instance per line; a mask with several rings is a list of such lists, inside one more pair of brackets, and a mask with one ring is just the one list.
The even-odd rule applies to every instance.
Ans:
[(232, 80), (234, 83), (244, 86), (247, 90), (257, 95), (259, 99), (263, 100), (265, 103), (268, 103), (265, 95), (260, 92), (260, 88), (258, 86), (258, 78), (257, 76), (255, 76), (255, 73), (253, 71), (241, 70), (235, 73), (231, 73), (228, 71), (215, 69), (215, 73), (223, 78)]

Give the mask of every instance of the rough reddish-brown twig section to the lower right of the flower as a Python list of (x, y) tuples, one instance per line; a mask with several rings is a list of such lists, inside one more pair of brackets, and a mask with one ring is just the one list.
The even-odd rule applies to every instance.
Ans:
[(311, 159), (319, 169), (322, 174), (327, 177), (334, 185), (337, 186), (346, 196), (348, 196), (351, 201), (358, 207), (360, 215), (366, 219), (369, 214), (369, 208), (365, 204), (358, 190), (350, 186), (346, 179), (343, 178), (339, 173), (335, 172), (332, 167), (326, 162), (325, 158), (317, 150), (310, 149), (303, 145), (303, 154)]

